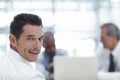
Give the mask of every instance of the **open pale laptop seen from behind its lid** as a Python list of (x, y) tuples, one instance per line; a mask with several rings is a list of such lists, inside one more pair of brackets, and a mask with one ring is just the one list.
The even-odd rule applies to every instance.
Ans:
[(54, 80), (97, 80), (95, 57), (56, 56)]

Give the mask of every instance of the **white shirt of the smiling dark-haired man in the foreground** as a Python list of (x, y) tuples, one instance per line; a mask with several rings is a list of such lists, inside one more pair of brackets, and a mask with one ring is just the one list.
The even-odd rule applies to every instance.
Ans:
[(0, 58), (0, 80), (45, 80), (29, 61), (12, 49)]

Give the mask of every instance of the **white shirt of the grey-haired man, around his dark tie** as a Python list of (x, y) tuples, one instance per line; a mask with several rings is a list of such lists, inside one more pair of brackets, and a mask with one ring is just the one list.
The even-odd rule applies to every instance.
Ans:
[[(118, 42), (117, 46), (111, 53), (114, 56), (114, 62), (116, 66), (115, 71), (120, 72), (120, 41)], [(108, 72), (109, 55), (110, 55), (110, 50), (108, 49), (103, 49), (97, 54), (99, 71)]]

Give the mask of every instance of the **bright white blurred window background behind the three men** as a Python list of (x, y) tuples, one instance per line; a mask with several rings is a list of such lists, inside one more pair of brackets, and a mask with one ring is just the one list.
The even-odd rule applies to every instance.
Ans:
[(0, 0), (1, 51), (7, 50), (10, 22), (23, 12), (39, 15), (44, 30), (55, 33), (56, 47), (71, 56), (95, 53), (101, 24), (120, 26), (120, 0)]

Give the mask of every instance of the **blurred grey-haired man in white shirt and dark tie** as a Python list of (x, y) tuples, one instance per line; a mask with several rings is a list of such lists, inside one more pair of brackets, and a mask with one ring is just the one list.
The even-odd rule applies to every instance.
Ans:
[(113, 23), (101, 26), (101, 42), (104, 49), (98, 54), (98, 70), (104, 72), (120, 71), (120, 30)]

